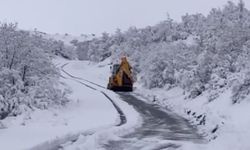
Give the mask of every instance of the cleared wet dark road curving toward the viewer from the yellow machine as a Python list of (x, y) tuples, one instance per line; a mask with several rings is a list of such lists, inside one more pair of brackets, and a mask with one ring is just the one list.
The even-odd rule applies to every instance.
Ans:
[(181, 145), (169, 141), (202, 142), (197, 130), (184, 118), (145, 103), (130, 93), (119, 93), (119, 95), (140, 113), (143, 124), (135, 132), (121, 137), (121, 140), (110, 141), (105, 145), (105, 149), (140, 150), (147, 147), (150, 150), (177, 149)]

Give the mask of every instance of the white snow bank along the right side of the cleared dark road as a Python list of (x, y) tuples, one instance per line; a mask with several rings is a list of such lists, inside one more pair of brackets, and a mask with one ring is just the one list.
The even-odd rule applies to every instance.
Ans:
[[(233, 105), (230, 101), (231, 90), (208, 102), (206, 93), (190, 100), (180, 88), (147, 90), (137, 85), (136, 92), (144, 95), (150, 103), (167, 107), (189, 119), (209, 141), (203, 145), (206, 150), (249, 150), (250, 144), (250, 103), (245, 101)], [(147, 94), (145, 94), (147, 93)], [(184, 148), (185, 149), (185, 148)], [(192, 148), (195, 149), (195, 148)]]

